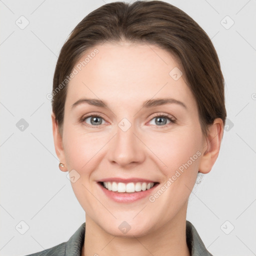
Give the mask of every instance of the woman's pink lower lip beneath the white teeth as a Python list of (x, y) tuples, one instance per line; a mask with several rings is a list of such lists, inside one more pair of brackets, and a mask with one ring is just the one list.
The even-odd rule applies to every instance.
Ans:
[(159, 183), (155, 184), (153, 187), (145, 191), (132, 192), (132, 193), (127, 193), (127, 192), (119, 193), (119, 192), (109, 191), (107, 188), (103, 187), (100, 183), (98, 183), (98, 185), (103, 190), (105, 195), (116, 202), (134, 202), (136, 200), (142, 199), (148, 196), (158, 184)]

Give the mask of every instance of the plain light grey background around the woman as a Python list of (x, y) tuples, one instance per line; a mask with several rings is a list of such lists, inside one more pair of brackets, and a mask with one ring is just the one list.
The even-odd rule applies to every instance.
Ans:
[[(67, 173), (58, 169), (46, 94), (68, 34), (107, 2), (0, 0), (1, 255), (57, 245), (85, 221)], [(225, 78), (229, 119), (214, 167), (191, 193), (187, 219), (214, 256), (256, 255), (256, 1), (168, 2), (211, 38)], [(23, 29), (27, 21), (21, 15), (29, 21)], [(21, 118), (28, 123), (23, 131)], [(24, 234), (26, 224), (20, 221), (29, 227)]]

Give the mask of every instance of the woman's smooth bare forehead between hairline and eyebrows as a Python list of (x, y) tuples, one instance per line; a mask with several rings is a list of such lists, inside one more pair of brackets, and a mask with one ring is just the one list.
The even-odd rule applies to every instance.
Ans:
[[(178, 59), (156, 45), (105, 42), (88, 49), (74, 69), (76, 74), (68, 83), (67, 104), (82, 96), (116, 103), (120, 99), (130, 104), (154, 96), (171, 96), (193, 103), (190, 89), (180, 76), (182, 66)], [(173, 77), (173, 73), (180, 78)]]

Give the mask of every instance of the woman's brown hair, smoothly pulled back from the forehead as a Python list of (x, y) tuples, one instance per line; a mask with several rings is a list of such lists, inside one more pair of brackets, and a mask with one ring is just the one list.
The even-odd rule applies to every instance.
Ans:
[(67, 77), (75, 63), (87, 49), (120, 40), (155, 44), (177, 56), (196, 100), (203, 133), (217, 117), (225, 123), (224, 78), (217, 53), (204, 30), (167, 2), (111, 2), (85, 16), (60, 50), (53, 77), (52, 111), (61, 132)]

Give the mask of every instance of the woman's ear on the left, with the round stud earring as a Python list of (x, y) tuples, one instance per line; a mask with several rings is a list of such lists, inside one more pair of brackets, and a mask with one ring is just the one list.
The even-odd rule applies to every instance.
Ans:
[(62, 136), (58, 130), (58, 123), (56, 121), (54, 113), (51, 113), (51, 121), (52, 121), (52, 132), (53, 132), (53, 140), (54, 140), (54, 147), (57, 157), (61, 163), (64, 164), (60, 170), (67, 171), (66, 164), (65, 164), (65, 155), (62, 143)]

